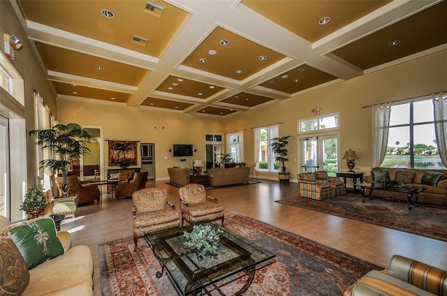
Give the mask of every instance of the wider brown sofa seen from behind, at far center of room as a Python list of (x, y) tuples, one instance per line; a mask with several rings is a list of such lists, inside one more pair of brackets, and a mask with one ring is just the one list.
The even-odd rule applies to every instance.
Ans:
[(213, 187), (249, 182), (250, 168), (214, 168), (208, 171), (208, 184)]

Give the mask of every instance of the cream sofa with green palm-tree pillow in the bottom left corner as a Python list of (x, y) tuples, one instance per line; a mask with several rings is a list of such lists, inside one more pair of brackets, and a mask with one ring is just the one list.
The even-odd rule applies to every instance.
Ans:
[(70, 248), (70, 233), (50, 217), (10, 224), (0, 216), (0, 246), (0, 295), (93, 295), (89, 247)]

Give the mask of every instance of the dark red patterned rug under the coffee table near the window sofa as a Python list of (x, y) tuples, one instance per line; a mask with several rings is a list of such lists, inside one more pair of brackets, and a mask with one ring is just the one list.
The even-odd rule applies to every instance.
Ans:
[(276, 202), (447, 242), (447, 207), (424, 204), (409, 211), (408, 203), (404, 201), (367, 198), (362, 202), (360, 195), (349, 194), (322, 201), (295, 196)]

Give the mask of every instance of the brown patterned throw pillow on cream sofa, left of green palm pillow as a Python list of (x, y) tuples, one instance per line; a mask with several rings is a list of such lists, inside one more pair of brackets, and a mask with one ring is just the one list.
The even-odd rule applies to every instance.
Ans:
[(0, 241), (0, 295), (22, 295), (29, 271), (12, 239)]

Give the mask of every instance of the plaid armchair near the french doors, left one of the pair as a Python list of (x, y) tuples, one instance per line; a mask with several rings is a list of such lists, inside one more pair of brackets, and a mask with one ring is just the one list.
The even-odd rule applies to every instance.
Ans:
[(318, 182), (314, 172), (302, 172), (298, 174), (300, 196), (313, 200), (325, 200), (330, 198), (330, 184)]

